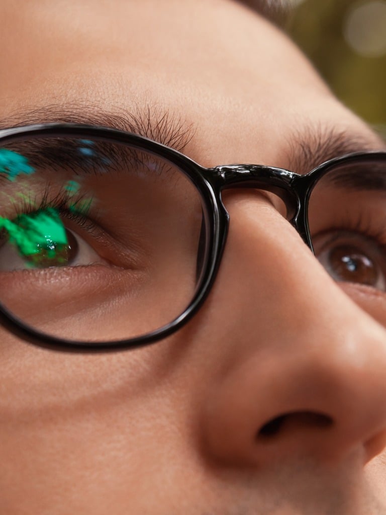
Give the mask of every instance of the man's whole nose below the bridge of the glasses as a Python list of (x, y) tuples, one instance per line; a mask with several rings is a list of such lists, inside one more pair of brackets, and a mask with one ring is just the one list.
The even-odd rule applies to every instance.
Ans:
[(386, 444), (386, 331), (266, 200), (232, 192), (226, 207), (206, 448), (244, 465), (353, 453), (365, 464)]

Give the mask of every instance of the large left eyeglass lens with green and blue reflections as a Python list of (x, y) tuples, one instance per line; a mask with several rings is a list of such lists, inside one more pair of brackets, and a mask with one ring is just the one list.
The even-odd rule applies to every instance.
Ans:
[(195, 295), (200, 193), (171, 163), (93, 139), (0, 148), (0, 291), (8, 312), (67, 340), (160, 329)]

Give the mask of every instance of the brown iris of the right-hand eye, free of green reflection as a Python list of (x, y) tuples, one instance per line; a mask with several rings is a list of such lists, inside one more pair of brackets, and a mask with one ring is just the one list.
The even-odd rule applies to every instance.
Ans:
[(358, 248), (341, 245), (331, 250), (329, 262), (339, 280), (375, 286), (378, 268), (374, 262)]

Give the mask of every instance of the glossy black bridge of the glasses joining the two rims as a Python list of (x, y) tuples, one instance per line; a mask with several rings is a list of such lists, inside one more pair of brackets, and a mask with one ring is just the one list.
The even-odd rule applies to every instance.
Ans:
[(293, 183), (297, 176), (284, 168), (265, 165), (227, 165), (217, 166), (215, 176), (220, 179), (221, 190), (231, 188), (257, 188), (279, 197), (287, 209), (288, 220), (293, 220), (300, 209), (301, 199)]

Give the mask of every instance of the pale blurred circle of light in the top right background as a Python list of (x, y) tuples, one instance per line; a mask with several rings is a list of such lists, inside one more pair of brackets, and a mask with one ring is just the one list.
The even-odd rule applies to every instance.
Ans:
[(386, 2), (377, 0), (354, 6), (344, 23), (347, 44), (363, 57), (386, 54)]

